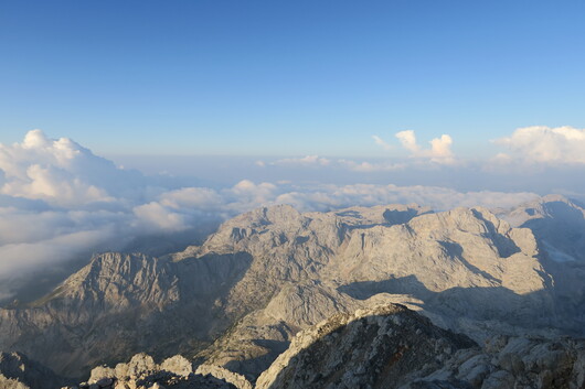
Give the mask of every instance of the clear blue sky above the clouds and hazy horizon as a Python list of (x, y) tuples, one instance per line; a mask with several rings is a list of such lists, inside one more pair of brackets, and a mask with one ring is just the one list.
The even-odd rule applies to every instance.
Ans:
[(583, 1), (0, 1), (0, 142), (382, 155), (585, 127)]

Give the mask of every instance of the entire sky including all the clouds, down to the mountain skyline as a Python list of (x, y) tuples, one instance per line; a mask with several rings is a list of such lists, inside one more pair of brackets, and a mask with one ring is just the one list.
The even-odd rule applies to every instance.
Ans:
[(152, 237), (184, 247), (264, 205), (585, 201), (584, 15), (0, 0), (0, 301), (14, 275)]

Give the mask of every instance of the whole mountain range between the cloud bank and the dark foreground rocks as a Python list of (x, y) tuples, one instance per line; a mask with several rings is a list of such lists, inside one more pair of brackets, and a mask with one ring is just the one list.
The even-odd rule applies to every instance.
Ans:
[(77, 378), (181, 354), (254, 383), (299, 332), (392, 303), (481, 347), (578, 338), (584, 215), (559, 196), (494, 212), (259, 208), (182, 252), (95, 256), (45, 298), (0, 310), (0, 349)]

